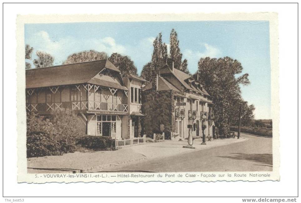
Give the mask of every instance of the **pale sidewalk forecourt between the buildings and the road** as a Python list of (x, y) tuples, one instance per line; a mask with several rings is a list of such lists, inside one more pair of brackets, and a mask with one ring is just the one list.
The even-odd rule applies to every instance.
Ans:
[(246, 138), (218, 139), (207, 141), (207, 145), (201, 145), (202, 140), (195, 139), (193, 144), (195, 149), (183, 148), (184, 145), (188, 145), (187, 140), (165, 140), (164, 142), (124, 147), (116, 151), (75, 152), (62, 156), (35, 157), (27, 159), (27, 171), (28, 173), (79, 173), (100, 169), (109, 171), (112, 166), (129, 164), (134, 161), (168, 157), (246, 140)]

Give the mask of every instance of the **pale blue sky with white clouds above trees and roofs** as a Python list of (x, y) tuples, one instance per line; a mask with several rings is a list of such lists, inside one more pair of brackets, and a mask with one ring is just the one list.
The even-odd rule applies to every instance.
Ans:
[[(138, 73), (151, 59), (152, 42), (162, 33), (169, 45), (174, 28), (180, 40), (183, 58), (190, 73), (195, 73), (201, 57), (229, 56), (249, 73), (251, 84), (242, 86), (242, 97), (254, 104), (255, 119), (271, 118), (271, 84), (268, 21), (193, 21), (193, 22), (101, 22), (26, 24), (25, 43), (54, 56), (54, 65), (68, 55), (94, 49), (109, 55), (128, 55)], [(33, 66), (34, 67), (34, 66)]]

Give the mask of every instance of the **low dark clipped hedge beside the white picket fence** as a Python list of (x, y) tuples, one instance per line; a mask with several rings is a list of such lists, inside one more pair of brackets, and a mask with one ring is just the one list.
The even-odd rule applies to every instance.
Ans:
[(113, 150), (115, 149), (115, 140), (105, 136), (82, 136), (76, 144), (92, 150)]

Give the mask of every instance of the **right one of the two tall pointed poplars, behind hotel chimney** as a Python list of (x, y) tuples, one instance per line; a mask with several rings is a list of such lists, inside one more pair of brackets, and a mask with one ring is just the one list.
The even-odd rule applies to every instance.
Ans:
[(182, 63), (182, 53), (179, 47), (178, 34), (175, 29), (172, 29), (170, 33), (170, 58), (174, 62), (176, 69), (189, 74), (189, 71), (187, 69), (187, 59), (184, 59)]

